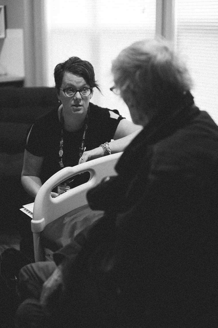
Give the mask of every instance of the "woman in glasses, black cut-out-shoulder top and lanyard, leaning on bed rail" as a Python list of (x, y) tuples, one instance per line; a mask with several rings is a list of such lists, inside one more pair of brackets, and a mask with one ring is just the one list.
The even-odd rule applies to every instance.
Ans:
[[(140, 129), (118, 111), (90, 102), (93, 89), (100, 88), (88, 61), (71, 57), (55, 67), (54, 78), (61, 106), (33, 124), (25, 147), (21, 181), (33, 199), (42, 184), (63, 167), (122, 152)], [(51, 195), (57, 197), (87, 179), (86, 174), (77, 176)]]

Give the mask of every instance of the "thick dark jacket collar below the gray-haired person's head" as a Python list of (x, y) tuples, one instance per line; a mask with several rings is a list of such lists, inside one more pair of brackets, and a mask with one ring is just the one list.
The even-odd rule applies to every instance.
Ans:
[[(163, 109), (127, 146), (115, 166), (117, 173), (129, 180), (131, 176), (134, 176), (134, 172), (137, 170), (139, 162), (143, 160), (149, 145), (165, 139), (184, 125), (188, 125), (199, 113), (199, 108), (194, 105), (192, 94), (186, 92), (183, 95), (181, 105), (176, 110), (175, 107)], [(131, 163), (131, 170), (129, 163)]]

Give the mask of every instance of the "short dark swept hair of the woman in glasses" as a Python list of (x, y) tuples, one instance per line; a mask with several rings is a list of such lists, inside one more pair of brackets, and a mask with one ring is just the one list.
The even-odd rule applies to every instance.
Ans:
[(59, 94), (65, 72), (69, 72), (84, 78), (91, 88), (97, 88), (100, 92), (100, 87), (95, 81), (94, 69), (90, 62), (82, 60), (79, 57), (70, 57), (66, 61), (56, 65), (54, 69), (55, 89)]

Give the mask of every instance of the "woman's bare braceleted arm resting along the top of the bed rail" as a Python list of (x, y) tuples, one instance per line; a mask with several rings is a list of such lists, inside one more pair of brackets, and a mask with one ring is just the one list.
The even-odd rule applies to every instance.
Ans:
[[(118, 118), (114, 112), (110, 112), (112, 118)], [(128, 144), (136, 137), (136, 135), (143, 129), (142, 126), (136, 125), (131, 121), (122, 119), (115, 131), (113, 141), (109, 142), (111, 154), (123, 152)], [(80, 158), (80, 163), (85, 163), (91, 159), (104, 156), (104, 151), (102, 147), (94, 148), (90, 151), (84, 152)]]

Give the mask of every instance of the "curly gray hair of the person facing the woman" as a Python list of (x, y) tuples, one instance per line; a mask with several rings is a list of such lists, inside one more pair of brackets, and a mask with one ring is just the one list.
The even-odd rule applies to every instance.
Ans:
[(192, 81), (186, 66), (163, 39), (146, 39), (122, 50), (111, 68), (115, 87), (138, 110), (158, 112), (179, 103)]

